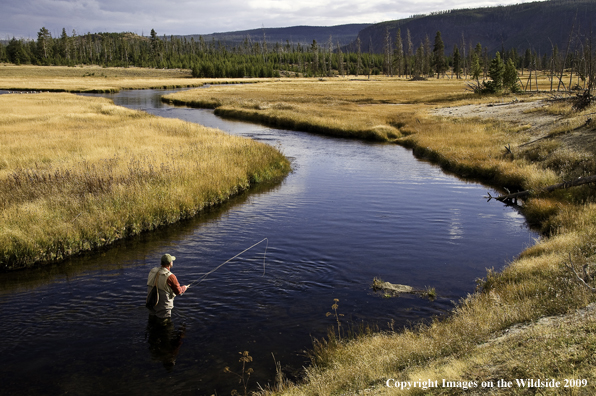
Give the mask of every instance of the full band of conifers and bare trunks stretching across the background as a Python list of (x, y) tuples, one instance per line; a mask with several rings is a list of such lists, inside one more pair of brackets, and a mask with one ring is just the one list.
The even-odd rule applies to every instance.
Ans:
[[(538, 71), (548, 73), (551, 89), (585, 88), (586, 84), (591, 87), (596, 60), (592, 35), (583, 37), (579, 31), (571, 32), (564, 50), (553, 46), (545, 54), (530, 47), (523, 53), (518, 53), (515, 48), (501, 48), (496, 54), (489, 55), (488, 48), (481, 43), (466, 43), (463, 35), (461, 43), (446, 53), (440, 31), (436, 32), (432, 43), (427, 35), (415, 46), (410, 31), (406, 30), (402, 37), (401, 29), (395, 37), (386, 30), (383, 53), (374, 53), (372, 48), (372, 41), (362, 43), (360, 37), (346, 47), (331, 37), (326, 43), (313, 40), (310, 45), (302, 45), (289, 41), (268, 43), (265, 35), (258, 40), (247, 36), (241, 44), (226, 46), (215, 40), (206, 42), (202, 37), (198, 40), (159, 37), (153, 29), (149, 37), (133, 33), (79, 35), (74, 30), (69, 36), (65, 29), (59, 37), (52, 37), (42, 27), (37, 40), (13, 38), (6, 45), (0, 44), (0, 62), (191, 69), (194, 77), (208, 78), (371, 74), (466, 78), (475, 80), (485, 91), (496, 92), (502, 89), (531, 90), (536, 87)], [(518, 77), (514, 78), (514, 74)], [(564, 74), (569, 75), (569, 80), (563, 79)], [(494, 80), (496, 75), (505, 76), (505, 80), (500, 81), (498, 77)], [(487, 78), (492, 82), (481, 85), (480, 79)]]

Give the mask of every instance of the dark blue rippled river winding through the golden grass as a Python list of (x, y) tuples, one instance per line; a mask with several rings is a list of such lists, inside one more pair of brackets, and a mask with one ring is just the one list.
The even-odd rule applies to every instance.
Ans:
[[(537, 234), (482, 198), (487, 188), (444, 174), (395, 145), (326, 138), (171, 107), (167, 91), (123, 91), (117, 104), (279, 145), (294, 172), (222, 208), (60, 265), (0, 274), (0, 394), (229, 394), (240, 351), (251, 377), (272, 381), (275, 359), (296, 375), (303, 351), (335, 322), (387, 329), (442, 315)], [(183, 284), (268, 238), (176, 298), (171, 329), (144, 308), (163, 253)], [(381, 298), (373, 277), (436, 288), (438, 298)], [(180, 335), (183, 335), (181, 338)], [(175, 360), (175, 365), (172, 361)]]

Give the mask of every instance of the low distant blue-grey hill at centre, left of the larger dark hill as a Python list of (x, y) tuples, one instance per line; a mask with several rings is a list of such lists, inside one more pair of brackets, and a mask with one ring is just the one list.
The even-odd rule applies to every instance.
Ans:
[(254, 42), (263, 42), (263, 36), (265, 41), (271, 44), (280, 43), (286, 44), (300, 44), (310, 45), (313, 40), (319, 43), (326, 43), (331, 40), (334, 45), (339, 42), (340, 45), (347, 45), (354, 41), (358, 36), (358, 33), (370, 26), (370, 24), (348, 24), (348, 25), (337, 25), (337, 26), (292, 26), (285, 28), (261, 28), (252, 30), (242, 30), (237, 32), (226, 32), (226, 33), (213, 33), (204, 35), (187, 35), (180, 36), (185, 37), (187, 40), (194, 38), (199, 40), (200, 37), (206, 42), (215, 40), (221, 44), (225, 44), (227, 47), (233, 47), (235, 45), (243, 43), (245, 40), (251, 40)]

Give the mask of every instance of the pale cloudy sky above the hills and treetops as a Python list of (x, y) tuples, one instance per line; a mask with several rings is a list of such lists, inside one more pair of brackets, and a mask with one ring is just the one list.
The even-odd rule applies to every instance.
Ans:
[(0, 0), (0, 39), (87, 32), (187, 35), (261, 27), (377, 23), (526, 0)]

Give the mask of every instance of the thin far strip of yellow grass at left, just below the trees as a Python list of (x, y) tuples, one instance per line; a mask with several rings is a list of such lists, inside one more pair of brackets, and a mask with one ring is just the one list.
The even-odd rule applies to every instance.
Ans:
[(16, 66), (0, 64), (0, 89), (15, 91), (110, 93), (122, 89), (173, 89), (205, 84), (237, 84), (262, 79), (199, 79), (190, 70), (100, 66)]

